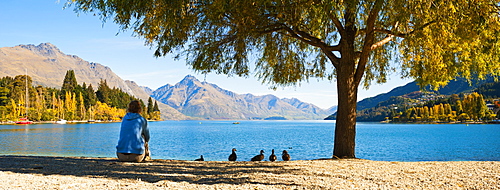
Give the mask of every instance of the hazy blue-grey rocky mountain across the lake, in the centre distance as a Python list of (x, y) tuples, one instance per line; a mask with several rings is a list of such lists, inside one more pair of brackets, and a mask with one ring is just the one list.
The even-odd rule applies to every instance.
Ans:
[(158, 88), (152, 97), (184, 115), (201, 119), (322, 119), (329, 114), (295, 98), (237, 94), (191, 75), (175, 85)]

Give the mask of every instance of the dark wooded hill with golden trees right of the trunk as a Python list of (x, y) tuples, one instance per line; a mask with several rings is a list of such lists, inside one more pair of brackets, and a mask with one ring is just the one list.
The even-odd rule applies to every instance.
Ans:
[[(500, 97), (500, 83), (493, 81), (492, 77), (470, 83), (465, 79), (457, 79), (438, 91), (429, 88), (422, 91), (416, 82), (411, 82), (358, 102), (357, 121), (383, 121), (388, 118), (400, 122), (488, 120), (494, 118), (497, 108), (490, 113), (485, 109), (487, 104), (497, 104), (496, 99)], [(467, 106), (469, 108), (465, 109)], [(438, 110), (447, 110), (449, 113), (436, 115)], [(326, 119), (335, 119), (335, 114)]]

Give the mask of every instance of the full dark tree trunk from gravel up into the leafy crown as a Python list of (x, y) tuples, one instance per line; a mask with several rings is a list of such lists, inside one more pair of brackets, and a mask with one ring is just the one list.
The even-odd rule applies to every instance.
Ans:
[[(363, 69), (358, 65), (360, 57), (356, 56), (356, 4), (347, 1), (348, 8), (344, 15), (344, 27), (340, 38), (340, 58), (331, 60), (335, 63), (337, 74), (337, 121), (335, 123), (335, 139), (333, 146), (333, 157), (355, 158), (356, 147), (356, 102), (358, 96), (358, 85), (363, 70), (356, 74), (357, 69)], [(335, 62), (336, 61), (336, 62)]]

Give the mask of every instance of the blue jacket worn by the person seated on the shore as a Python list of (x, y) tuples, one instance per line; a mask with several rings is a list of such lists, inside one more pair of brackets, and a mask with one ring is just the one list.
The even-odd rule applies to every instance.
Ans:
[(148, 122), (138, 113), (127, 113), (122, 120), (116, 152), (144, 154), (145, 142), (149, 142)]

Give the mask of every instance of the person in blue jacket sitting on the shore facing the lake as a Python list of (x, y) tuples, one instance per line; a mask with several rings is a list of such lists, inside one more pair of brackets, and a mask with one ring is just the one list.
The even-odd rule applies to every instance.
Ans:
[(149, 129), (147, 120), (141, 116), (141, 104), (134, 100), (128, 104), (123, 117), (116, 155), (122, 162), (142, 162), (149, 157)]

